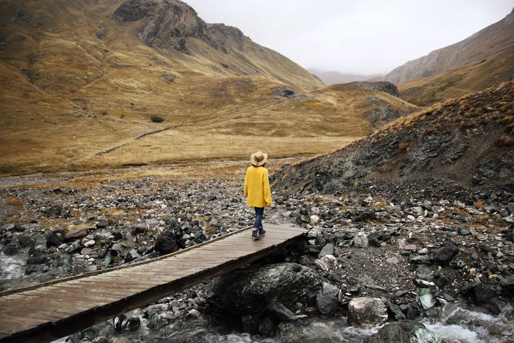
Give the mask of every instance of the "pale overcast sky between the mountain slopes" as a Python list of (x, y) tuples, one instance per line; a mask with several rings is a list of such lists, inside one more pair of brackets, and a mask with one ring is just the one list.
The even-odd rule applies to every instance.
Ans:
[(514, 0), (183, 0), (304, 68), (387, 74), (502, 20)]

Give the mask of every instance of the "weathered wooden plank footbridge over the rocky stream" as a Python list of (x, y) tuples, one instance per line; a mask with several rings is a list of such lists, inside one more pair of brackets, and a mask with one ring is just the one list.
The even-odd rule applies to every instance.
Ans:
[(0, 293), (0, 342), (49, 342), (89, 328), (280, 250), (305, 229), (251, 227), (155, 259)]

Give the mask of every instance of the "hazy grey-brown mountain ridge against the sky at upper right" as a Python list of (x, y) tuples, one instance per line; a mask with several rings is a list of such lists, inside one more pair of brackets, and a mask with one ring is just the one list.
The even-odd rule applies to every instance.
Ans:
[(384, 77), (384, 81), (398, 84), (411, 79), (431, 77), (512, 49), (514, 49), (514, 9), (501, 21), (474, 33), (461, 42), (434, 50), (427, 56), (395, 68)]

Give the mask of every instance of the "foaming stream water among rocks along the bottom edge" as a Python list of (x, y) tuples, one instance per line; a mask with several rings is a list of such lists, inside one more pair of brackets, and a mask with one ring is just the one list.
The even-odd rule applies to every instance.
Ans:
[[(433, 320), (423, 319), (427, 329), (435, 332), (447, 343), (512, 343), (514, 342), (514, 318), (512, 309), (509, 315), (492, 316), (467, 309), (465, 305), (449, 306), (444, 314)], [(478, 310), (478, 309), (476, 309)], [(136, 315), (138, 310), (131, 315)], [(148, 329), (144, 327), (145, 320), (139, 332), (120, 333), (109, 337), (113, 343), (148, 343), (144, 339)], [(296, 333), (301, 333), (303, 342), (308, 343), (362, 343), (365, 337), (376, 333), (381, 326), (359, 328), (347, 326), (344, 318), (311, 318), (300, 327), (296, 327)], [(186, 329), (182, 332), (175, 332), (173, 337), (187, 337), (192, 331), (197, 331), (198, 327)], [(198, 338), (198, 336), (196, 336)], [(196, 340), (196, 339), (195, 339)], [(53, 343), (64, 343), (65, 338), (54, 341)], [(155, 341), (155, 337), (154, 340)], [(160, 337), (159, 341), (172, 342), (169, 334)], [(262, 338), (248, 333), (219, 334), (209, 329), (203, 330), (201, 342), (205, 343), (279, 343), (275, 338)]]

